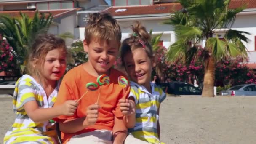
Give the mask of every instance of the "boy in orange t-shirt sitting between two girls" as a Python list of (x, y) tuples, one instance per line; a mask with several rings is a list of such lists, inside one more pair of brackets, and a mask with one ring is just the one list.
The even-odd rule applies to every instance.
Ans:
[[(64, 144), (123, 144), (127, 128), (117, 103), (126, 99), (130, 87), (118, 85), (117, 78), (123, 73), (111, 68), (120, 47), (121, 32), (117, 21), (107, 13), (93, 13), (85, 27), (84, 50), (88, 62), (71, 69), (64, 76), (54, 106), (82, 96), (89, 82), (96, 83), (99, 75), (110, 77), (109, 85), (102, 85), (78, 102), (73, 116), (59, 116), (61, 138)], [(99, 104), (96, 104), (98, 95)], [(112, 140), (113, 139), (113, 140)]]

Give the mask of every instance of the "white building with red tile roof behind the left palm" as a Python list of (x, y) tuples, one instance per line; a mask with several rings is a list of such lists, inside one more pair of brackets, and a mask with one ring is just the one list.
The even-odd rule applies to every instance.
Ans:
[(107, 5), (107, 3), (104, 0), (0, 0), (0, 14), (20, 17), (21, 11), (32, 18), (37, 10), (40, 13), (51, 13), (53, 22), (49, 33), (57, 35), (69, 32), (76, 35), (77, 27), (85, 26), (85, 24), (80, 25), (83, 18), (77, 14), (77, 11), (96, 5)]

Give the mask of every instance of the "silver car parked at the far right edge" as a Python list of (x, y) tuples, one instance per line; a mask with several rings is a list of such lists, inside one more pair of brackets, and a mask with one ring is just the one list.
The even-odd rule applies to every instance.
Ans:
[(235, 85), (225, 91), (221, 91), (222, 96), (256, 96), (256, 85), (245, 84)]

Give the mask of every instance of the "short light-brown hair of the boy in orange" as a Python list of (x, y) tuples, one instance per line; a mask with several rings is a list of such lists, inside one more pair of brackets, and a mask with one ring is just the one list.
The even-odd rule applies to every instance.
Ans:
[(108, 13), (93, 13), (85, 27), (85, 40), (89, 44), (93, 38), (98, 41), (116, 41), (120, 45), (122, 33), (117, 20)]

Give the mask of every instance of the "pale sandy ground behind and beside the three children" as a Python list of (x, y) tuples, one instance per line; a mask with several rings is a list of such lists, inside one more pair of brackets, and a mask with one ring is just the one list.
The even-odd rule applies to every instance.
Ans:
[[(0, 98), (0, 144), (15, 115), (11, 98)], [(254, 144), (256, 96), (167, 97), (160, 108), (165, 144)]]

